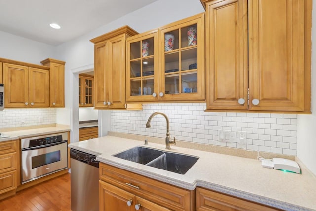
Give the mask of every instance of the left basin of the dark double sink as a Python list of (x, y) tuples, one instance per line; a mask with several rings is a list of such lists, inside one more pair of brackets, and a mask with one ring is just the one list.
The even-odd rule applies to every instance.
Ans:
[(147, 164), (162, 154), (163, 152), (160, 150), (137, 146), (113, 156), (139, 164)]

